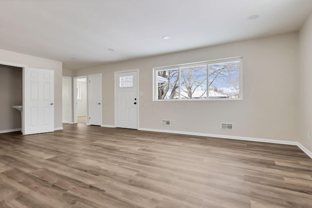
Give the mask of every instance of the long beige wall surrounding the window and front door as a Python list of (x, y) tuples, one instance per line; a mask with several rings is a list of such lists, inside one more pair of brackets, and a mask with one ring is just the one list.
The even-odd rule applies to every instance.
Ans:
[[(244, 99), (152, 101), (153, 67), (243, 56)], [(114, 125), (114, 72), (139, 69), (139, 128), (297, 141), (298, 34), (290, 33), (74, 71), (101, 73), (103, 124)], [(171, 127), (161, 119), (175, 120)], [(234, 123), (221, 131), (220, 122)]]

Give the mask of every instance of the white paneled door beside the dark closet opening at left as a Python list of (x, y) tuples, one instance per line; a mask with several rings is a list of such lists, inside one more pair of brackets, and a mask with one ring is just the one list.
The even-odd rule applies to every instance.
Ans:
[(24, 68), (23, 134), (54, 132), (54, 71)]

